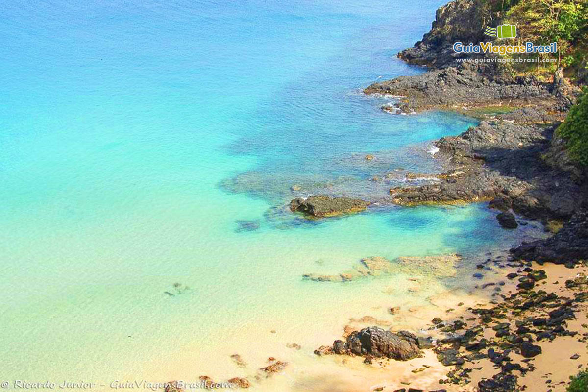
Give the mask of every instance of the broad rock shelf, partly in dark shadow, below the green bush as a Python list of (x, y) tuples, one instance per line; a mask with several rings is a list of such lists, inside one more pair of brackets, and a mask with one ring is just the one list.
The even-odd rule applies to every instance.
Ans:
[(482, 122), (459, 136), (438, 140), (437, 157), (449, 169), (438, 182), (390, 189), (400, 205), (491, 200), (500, 210), (513, 209), (538, 219), (568, 219), (584, 198), (582, 182), (547, 165), (554, 128)]

